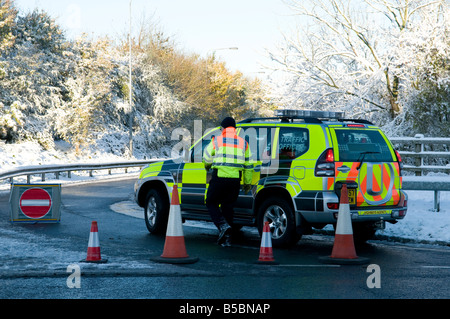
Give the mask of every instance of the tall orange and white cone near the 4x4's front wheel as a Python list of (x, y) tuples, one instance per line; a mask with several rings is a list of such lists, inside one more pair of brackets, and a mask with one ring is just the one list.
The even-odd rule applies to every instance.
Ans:
[(189, 257), (186, 251), (177, 185), (174, 185), (172, 190), (164, 251), (160, 257), (154, 257), (152, 260), (169, 264), (192, 264), (198, 261), (197, 257)]

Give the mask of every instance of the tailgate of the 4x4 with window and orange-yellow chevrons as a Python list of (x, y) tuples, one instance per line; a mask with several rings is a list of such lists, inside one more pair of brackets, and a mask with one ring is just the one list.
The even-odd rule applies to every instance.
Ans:
[(349, 203), (358, 207), (397, 205), (400, 170), (391, 143), (378, 128), (331, 128), (335, 187), (350, 183)]

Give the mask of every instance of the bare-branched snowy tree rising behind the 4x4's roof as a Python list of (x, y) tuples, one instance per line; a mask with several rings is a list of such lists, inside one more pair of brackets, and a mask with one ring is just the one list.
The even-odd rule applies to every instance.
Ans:
[(428, 39), (449, 12), (445, 0), (291, 0), (289, 6), (306, 20), (270, 52), (276, 69), (290, 75), (284, 103), (341, 109), (379, 124), (402, 114), (421, 80), (413, 39)]

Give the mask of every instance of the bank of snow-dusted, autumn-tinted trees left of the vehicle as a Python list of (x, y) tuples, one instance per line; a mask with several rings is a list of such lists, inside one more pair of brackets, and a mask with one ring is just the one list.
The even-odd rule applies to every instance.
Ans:
[(0, 18), (0, 43), (7, 46), (0, 54), (0, 139), (8, 143), (32, 141), (52, 150), (64, 140), (76, 156), (170, 156), (178, 142), (171, 140), (174, 129), (192, 129), (199, 118), (207, 128), (222, 114), (240, 117), (270, 105), (259, 83), (218, 61), (207, 67), (162, 33), (143, 30), (131, 43), (130, 106), (129, 43), (68, 40), (47, 13), (17, 15), (7, 0), (0, 0)]

